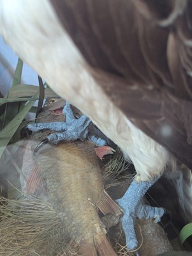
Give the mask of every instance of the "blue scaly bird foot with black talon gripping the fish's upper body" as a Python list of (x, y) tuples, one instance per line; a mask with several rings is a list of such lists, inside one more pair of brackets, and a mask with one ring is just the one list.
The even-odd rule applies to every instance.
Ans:
[(96, 143), (96, 145), (105, 145), (105, 140), (96, 138), (95, 136), (88, 136), (91, 120), (85, 115), (80, 116), (78, 119), (75, 118), (69, 102), (66, 102), (63, 108), (63, 114), (66, 116), (66, 122), (35, 123), (27, 125), (27, 128), (33, 132), (38, 132), (43, 129), (57, 131), (47, 136), (48, 141), (53, 144), (63, 140), (84, 141), (88, 138)]

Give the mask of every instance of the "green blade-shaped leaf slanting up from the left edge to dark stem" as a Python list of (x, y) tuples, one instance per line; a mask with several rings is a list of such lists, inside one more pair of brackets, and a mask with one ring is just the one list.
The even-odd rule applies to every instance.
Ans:
[(27, 113), (30, 111), (34, 104), (34, 98), (38, 97), (38, 92), (34, 95), (34, 97), (19, 111), (19, 113), (11, 120), (6, 127), (2, 131), (0, 131), (0, 158), (4, 152), (4, 149), (10, 142), (11, 138), (17, 131), (20, 123), (24, 119), (24, 117), (27, 115)]

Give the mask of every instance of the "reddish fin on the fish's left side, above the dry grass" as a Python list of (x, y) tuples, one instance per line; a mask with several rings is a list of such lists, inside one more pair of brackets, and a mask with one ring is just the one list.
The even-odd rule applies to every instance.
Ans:
[(26, 193), (28, 195), (34, 194), (36, 189), (41, 189), (41, 191), (45, 190), (45, 179), (41, 177), (40, 170), (37, 165), (34, 166), (29, 178), (27, 179)]

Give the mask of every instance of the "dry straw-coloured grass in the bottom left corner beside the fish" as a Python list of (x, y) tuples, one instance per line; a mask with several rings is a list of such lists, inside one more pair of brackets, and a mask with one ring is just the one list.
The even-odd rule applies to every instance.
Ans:
[[(1, 255), (77, 255), (50, 204), (34, 196), (0, 197)], [(73, 246), (72, 246), (73, 245)]]

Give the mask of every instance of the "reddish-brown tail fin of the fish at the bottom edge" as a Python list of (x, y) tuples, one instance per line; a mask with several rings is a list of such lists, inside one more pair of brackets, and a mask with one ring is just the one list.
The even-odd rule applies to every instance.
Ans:
[(103, 233), (97, 234), (80, 244), (78, 253), (84, 256), (117, 256)]

